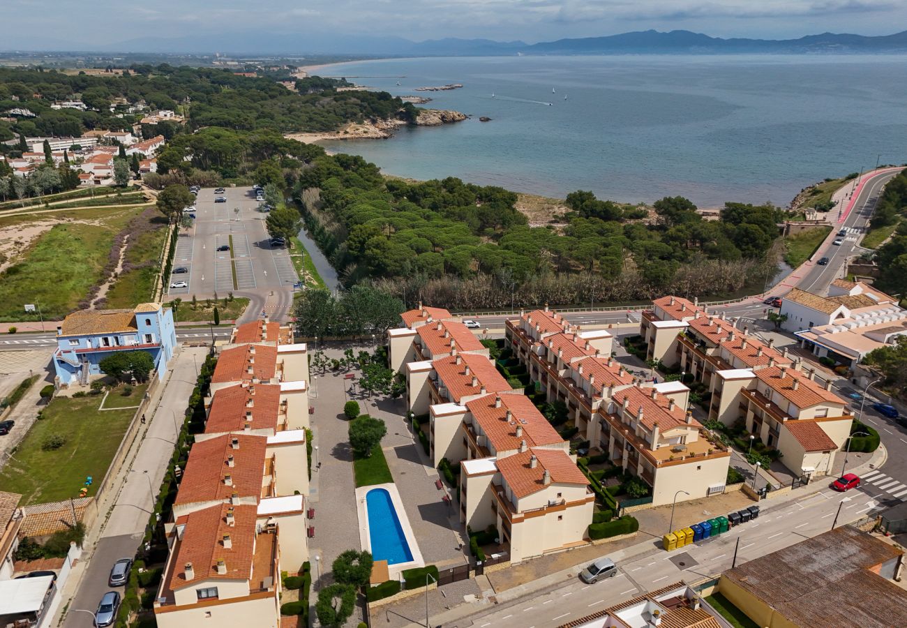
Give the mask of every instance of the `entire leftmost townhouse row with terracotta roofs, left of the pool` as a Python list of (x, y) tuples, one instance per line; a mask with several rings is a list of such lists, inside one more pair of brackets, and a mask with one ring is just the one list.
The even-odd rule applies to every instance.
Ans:
[(280, 625), (281, 572), (308, 560), (307, 347), (267, 319), (218, 346), (170, 521), (161, 628)]

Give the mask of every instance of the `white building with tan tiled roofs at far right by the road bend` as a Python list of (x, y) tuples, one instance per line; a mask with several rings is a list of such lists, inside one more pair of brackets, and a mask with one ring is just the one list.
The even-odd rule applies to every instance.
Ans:
[(793, 289), (781, 303), (782, 327), (818, 358), (853, 368), (876, 348), (907, 335), (907, 310), (898, 299), (863, 282), (834, 280), (828, 296)]

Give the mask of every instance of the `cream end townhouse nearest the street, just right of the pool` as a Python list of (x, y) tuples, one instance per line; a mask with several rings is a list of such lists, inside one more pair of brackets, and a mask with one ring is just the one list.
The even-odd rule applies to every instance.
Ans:
[(493, 525), (512, 564), (585, 545), (595, 495), (563, 449), (528, 447), (502, 458), (463, 460), (460, 520)]

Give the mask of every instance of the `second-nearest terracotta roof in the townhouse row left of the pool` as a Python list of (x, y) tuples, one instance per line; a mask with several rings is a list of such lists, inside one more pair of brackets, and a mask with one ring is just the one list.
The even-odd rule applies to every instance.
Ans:
[[(238, 449), (232, 446), (234, 438), (239, 442)], [(175, 503), (219, 501), (229, 499), (234, 493), (240, 497), (260, 497), (267, 442), (268, 437), (239, 434), (195, 443)], [(233, 456), (233, 466), (229, 466), (229, 456)], [(230, 476), (229, 485), (225, 484), (226, 476)]]

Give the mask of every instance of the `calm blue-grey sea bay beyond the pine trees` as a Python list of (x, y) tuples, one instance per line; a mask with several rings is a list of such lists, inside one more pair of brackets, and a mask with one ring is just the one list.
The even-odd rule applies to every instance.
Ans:
[[(434, 99), (423, 106), (473, 120), (392, 140), (325, 142), (415, 179), (453, 175), (558, 197), (583, 189), (615, 201), (681, 194), (700, 206), (786, 205), (806, 184), (872, 167), (879, 154), (883, 163), (907, 161), (907, 56), (399, 59), (321, 74), (357, 76), (395, 95), (463, 83), (421, 93)], [(493, 121), (480, 123), (483, 115)]]

